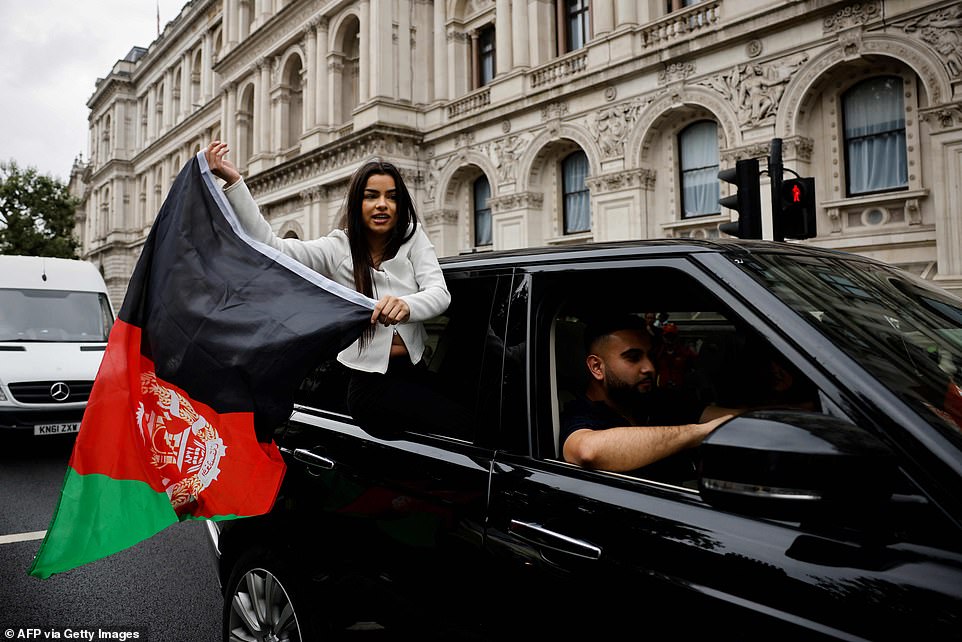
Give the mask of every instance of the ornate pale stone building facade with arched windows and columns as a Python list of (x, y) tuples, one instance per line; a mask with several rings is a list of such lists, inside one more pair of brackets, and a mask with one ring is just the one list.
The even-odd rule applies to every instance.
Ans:
[(804, 242), (962, 293), (962, 2), (191, 0), (88, 107), (77, 234), (115, 304), (213, 139), (279, 236), (394, 162), (442, 256), (716, 238), (718, 171), (780, 139), (816, 180)]

